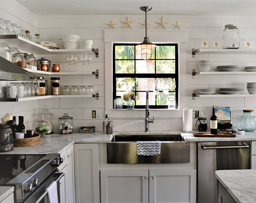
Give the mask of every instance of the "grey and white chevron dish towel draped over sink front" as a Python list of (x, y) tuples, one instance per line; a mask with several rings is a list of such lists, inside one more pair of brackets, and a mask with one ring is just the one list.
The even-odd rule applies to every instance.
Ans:
[(139, 156), (156, 156), (161, 153), (161, 142), (137, 141), (136, 149)]

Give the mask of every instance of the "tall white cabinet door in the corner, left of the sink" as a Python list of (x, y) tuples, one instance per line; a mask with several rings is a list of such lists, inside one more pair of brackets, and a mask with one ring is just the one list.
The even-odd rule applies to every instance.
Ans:
[(98, 144), (75, 144), (76, 203), (99, 203)]

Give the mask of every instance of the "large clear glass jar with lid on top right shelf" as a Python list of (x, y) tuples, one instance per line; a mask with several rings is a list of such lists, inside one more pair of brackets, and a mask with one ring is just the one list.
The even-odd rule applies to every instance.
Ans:
[(223, 49), (239, 49), (239, 29), (235, 24), (225, 25), (223, 30)]

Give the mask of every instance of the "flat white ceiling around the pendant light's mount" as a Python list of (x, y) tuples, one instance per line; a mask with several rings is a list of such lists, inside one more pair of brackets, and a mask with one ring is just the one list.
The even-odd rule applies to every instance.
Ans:
[(16, 0), (36, 15), (142, 14), (140, 6), (152, 6), (149, 14), (251, 15), (256, 0)]

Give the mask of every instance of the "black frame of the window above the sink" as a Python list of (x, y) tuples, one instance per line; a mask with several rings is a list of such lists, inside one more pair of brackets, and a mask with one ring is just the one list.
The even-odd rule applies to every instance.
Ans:
[[(115, 46), (134, 46), (134, 51), (135, 46), (137, 44), (135, 43), (113, 43), (113, 74), (112, 74), (112, 80), (113, 80), (113, 108), (114, 108), (114, 100), (116, 98), (116, 78), (126, 78), (126, 77), (131, 77), (131, 78), (174, 78), (175, 79), (175, 91), (169, 91), (169, 92), (175, 92), (175, 101), (176, 101), (176, 106), (175, 109), (178, 108), (178, 89), (179, 89), (179, 55), (178, 55), (178, 44), (177, 43), (164, 43), (164, 44), (156, 44), (157, 46), (174, 46), (175, 47), (175, 59), (156, 59), (156, 51), (155, 51), (155, 58), (150, 59), (150, 60), (155, 60), (155, 71), (156, 71), (156, 66), (157, 60), (175, 60), (175, 73), (116, 73), (115, 72)], [(154, 48), (156, 49), (156, 48)], [(134, 53), (135, 54), (135, 53)], [(117, 59), (117, 60), (134, 60), (134, 68), (136, 70), (136, 60), (143, 60), (143, 59), (136, 59), (136, 56), (134, 56), (134, 59)], [(157, 77), (156, 77), (157, 76)], [(146, 91), (133, 91), (135, 93), (137, 92), (146, 92)], [(154, 92), (154, 91), (149, 91), (149, 92)], [(159, 91), (163, 92), (163, 91)], [(143, 109), (145, 108), (145, 105), (134, 105), (135, 109)], [(126, 105), (123, 105), (123, 108), (126, 109)], [(168, 105), (150, 105), (150, 108), (152, 109), (168, 109)]]

